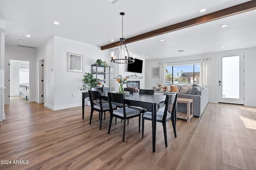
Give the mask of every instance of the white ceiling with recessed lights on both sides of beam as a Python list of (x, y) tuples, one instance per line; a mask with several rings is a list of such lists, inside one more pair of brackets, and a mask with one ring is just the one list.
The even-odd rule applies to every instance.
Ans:
[[(127, 39), (248, 1), (119, 0), (112, 4), (107, 0), (0, 0), (0, 19), (7, 21), (5, 44), (9, 46), (39, 47), (52, 36), (103, 46), (122, 37), (120, 12), (126, 14)], [(208, 10), (199, 13), (201, 8)], [(127, 48), (135, 55), (155, 59), (256, 47), (255, 17), (253, 10), (129, 43)], [(220, 28), (224, 23), (228, 27)], [(184, 52), (176, 54), (181, 49)]]

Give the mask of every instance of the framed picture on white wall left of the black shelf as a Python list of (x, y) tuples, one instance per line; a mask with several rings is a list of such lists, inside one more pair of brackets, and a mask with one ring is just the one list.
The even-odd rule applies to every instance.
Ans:
[(68, 52), (68, 71), (83, 72), (83, 55)]

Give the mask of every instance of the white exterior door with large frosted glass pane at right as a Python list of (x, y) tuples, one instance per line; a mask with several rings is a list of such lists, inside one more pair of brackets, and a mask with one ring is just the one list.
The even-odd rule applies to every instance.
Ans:
[(244, 104), (244, 52), (218, 56), (218, 102)]

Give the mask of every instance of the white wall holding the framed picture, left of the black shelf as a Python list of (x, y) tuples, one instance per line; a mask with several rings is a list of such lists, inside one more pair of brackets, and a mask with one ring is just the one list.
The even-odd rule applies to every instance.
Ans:
[[(83, 55), (83, 72), (68, 72), (67, 53)], [(85, 72), (91, 72), (91, 64), (97, 59), (104, 61), (104, 52), (100, 47), (55, 37), (54, 40), (54, 110), (82, 105), (82, 78)], [(72, 94), (74, 95), (72, 97)]]

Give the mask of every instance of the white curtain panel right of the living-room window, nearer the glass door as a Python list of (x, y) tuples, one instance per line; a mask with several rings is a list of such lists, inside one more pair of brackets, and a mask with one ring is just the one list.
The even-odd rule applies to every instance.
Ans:
[(201, 59), (200, 64), (200, 84), (207, 87), (208, 85), (208, 66), (209, 66), (209, 58)]

